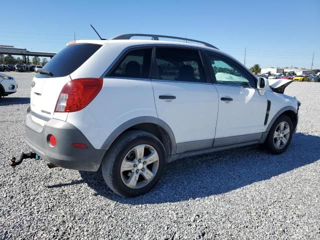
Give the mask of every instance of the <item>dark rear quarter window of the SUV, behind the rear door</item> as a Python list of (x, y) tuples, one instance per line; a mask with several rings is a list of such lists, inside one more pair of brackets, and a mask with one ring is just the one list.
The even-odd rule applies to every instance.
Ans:
[(140, 48), (126, 53), (108, 76), (149, 78), (152, 48)]

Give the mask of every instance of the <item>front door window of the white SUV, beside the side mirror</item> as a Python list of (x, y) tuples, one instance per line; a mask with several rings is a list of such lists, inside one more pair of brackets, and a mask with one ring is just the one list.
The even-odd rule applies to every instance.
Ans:
[(207, 53), (209, 65), (212, 67), (216, 83), (236, 85), (244, 87), (255, 87), (253, 79), (239, 70), (230, 61), (219, 56)]

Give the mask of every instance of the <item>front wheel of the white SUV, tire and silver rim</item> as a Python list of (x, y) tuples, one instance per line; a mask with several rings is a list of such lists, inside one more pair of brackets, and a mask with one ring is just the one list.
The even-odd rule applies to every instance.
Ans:
[[(275, 133), (275, 130), (281, 131), (280, 127), (280, 123), (284, 122), (284, 129), (282, 130), (282, 132), (287, 132), (286, 126), (289, 127), (288, 129), (288, 135), (287, 134), (278, 134)], [(275, 134), (277, 136), (275, 136)], [(266, 147), (266, 149), (268, 150), (268, 152), (270, 152), (271, 154), (281, 154), (283, 153), (286, 148), (288, 148), (290, 142), (291, 142), (291, 138), (292, 138), (292, 134), (293, 134), (293, 124), (292, 124), (292, 120), (289, 116), (287, 115), (280, 115), (272, 124), (269, 133), (264, 141), (264, 146)], [(281, 137), (282, 136), (282, 137)], [(278, 140), (277, 137), (279, 137), (279, 145), (277, 146)], [(286, 143), (284, 144), (283, 142), (283, 138), (285, 138)]]

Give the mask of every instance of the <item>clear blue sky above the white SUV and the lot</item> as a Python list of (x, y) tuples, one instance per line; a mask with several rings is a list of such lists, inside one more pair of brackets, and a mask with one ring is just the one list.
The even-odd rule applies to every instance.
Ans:
[(154, 33), (207, 41), (243, 62), (320, 68), (320, 0), (3, 1), (0, 44), (57, 52), (73, 39)]

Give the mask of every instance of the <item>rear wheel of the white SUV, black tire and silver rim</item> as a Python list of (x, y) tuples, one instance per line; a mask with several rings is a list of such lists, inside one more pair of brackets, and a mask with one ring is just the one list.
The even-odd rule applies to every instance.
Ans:
[[(143, 151), (137, 151), (142, 148)], [(136, 154), (136, 152), (142, 152), (142, 154)], [(137, 157), (138, 155), (143, 157)], [(153, 159), (156, 159), (157, 156), (158, 160), (152, 163), (143, 160), (150, 160), (151, 158), (147, 156), (151, 155)], [(140, 162), (138, 158), (141, 159)], [(106, 184), (115, 193), (126, 197), (142, 195), (151, 190), (160, 180), (165, 167), (165, 159), (164, 146), (156, 136), (141, 130), (127, 131), (112, 143), (102, 159), (102, 175)], [(123, 163), (129, 165), (123, 165)], [(123, 171), (127, 169), (126, 166), (130, 170)], [(137, 179), (137, 181), (132, 181), (132, 179)]]

